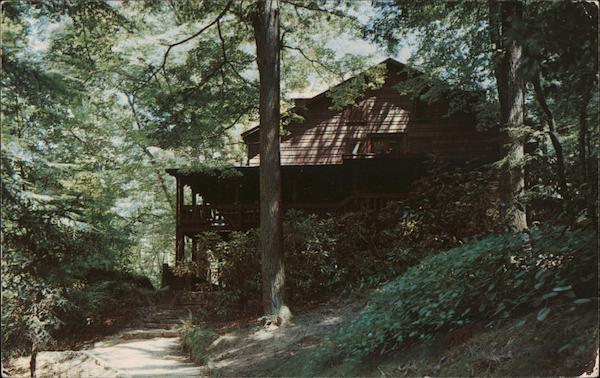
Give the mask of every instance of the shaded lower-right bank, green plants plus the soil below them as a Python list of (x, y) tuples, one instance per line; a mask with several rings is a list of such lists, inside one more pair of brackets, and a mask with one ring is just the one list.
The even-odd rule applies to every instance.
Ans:
[[(536, 361), (546, 361), (547, 372), (577, 373), (582, 361), (593, 359), (588, 354), (597, 340), (596, 251), (591, 230), (546, 228), (533, 232), (532, 251), (519, 238), (496, 235), (427, 257), (375, 290), (361, 314), (319, 347), (261, 373), (377, 374), (370, 370), (373, 364), (379, 370), (379, 362), (395, 361), (401, 351), (402, 364), (416, 364), (407, 375), (469, 375), (478, 363), (483, 364), (475, 369), (479, 374), (530, 375), (535, 368), (525, 366)], [(480, 351), (485, 340), (504, 339), (488, 348), (492, 362), (463, 353), (452, 364), (436, 361), (439, 371), (426, 371), (430, 358), (444, 356), (431, 347), (463, 345), (444, 339), (461, 333), (470, 340), (465, 348)]]

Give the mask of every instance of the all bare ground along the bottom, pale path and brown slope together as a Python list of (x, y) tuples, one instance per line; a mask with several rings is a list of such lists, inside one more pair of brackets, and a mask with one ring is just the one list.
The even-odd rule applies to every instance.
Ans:
[[(356, 316), (366, 297), (338, 299), (297, 309), (291, 324), (265, 328), (258, 320), (215, 325), (206, 364), (195, 365), (181, 349), (174, 329), (137, 329), (105, 338), (79, 351), (42, 352), (38, 376), (294, 376), (304, 351)], [(494, 324), (474, 324), (373, 358), (346, 370), (319, 370), (334, 376), (576, 376), (591, 372), (597, 356), (597, 314), (556, 311), (545, 322), (525, 314)], [(596, 357), (597, 358), (597, 357)], [(28, 375), (28, 358), (13, 365)], [(595, 373), (597, 376), (598, 364)], [(304, 372), (306, 374), (306, 372)]]

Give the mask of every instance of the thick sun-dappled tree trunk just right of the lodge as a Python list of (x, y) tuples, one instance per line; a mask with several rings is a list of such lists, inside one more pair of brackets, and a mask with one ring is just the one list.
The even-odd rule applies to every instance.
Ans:
[[(521, 72), (523, 43), (519, 32), (515, 30), (517, 25), (523, 23), (523, 4), (520, 1), (509, 1), (498, 5), (502, 56), (497, 62), (495, 75), (500, 100), (502, 139), (506, 149), (506, 168), (500, 178), (502, 219), (508, 229), (522, 232), (527, 230), (525, 207), (518, 201), (519, 195), (525, 188), (524, 149), (523, 142), (510, 129), (523, 127), (524, 81)], [(493, 20), (494, 12), (498, 12), (498, 5), (490, 2), (490, 20)]]

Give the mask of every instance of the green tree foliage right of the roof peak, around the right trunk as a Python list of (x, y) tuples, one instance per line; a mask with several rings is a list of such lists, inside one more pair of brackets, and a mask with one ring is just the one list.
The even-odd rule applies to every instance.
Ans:
[[(416, 46), (408, 63), (423, 73), (409, 75), (402, 89), (429, 102), (447, 96), (448, 85), (476, 94), (475, 101), (467, 103), (451, 99), (450, 108), (467, 105), (476, 113), (478, 126), (498, 125), (497, 87), (506, 84), (496, 82), (495, 75), (502, 55), (496, 19), (500, 2), (404, 1), (374, 6), (377, 11), (364, 27), (369, 37), (394, 52), (407, 41)], [(523, 22), (515, 26), (524, 45), (522, 76), (526, 84), (541, 82), (562, 146), (568, 189), (562, 195), (558, 190), (556, 166), (561, 162), (549, 141), (549, 115), (532, 85), (526, 85), (527, 119), (519, 134), (530, 139), (524, 141), (529, 154), (524, 162), (515, 163), (526, 164), (531, 177), (526, 198), (519, 200), (533, 208), (528, 217), (536, 220), (596, 222), (598, 153), (597, 143), (590, 141), (598, 135), (597, 7), (570, 2), (523, 2), (523, 7)], [(562, 198), (565, 195), (570, 198)]]

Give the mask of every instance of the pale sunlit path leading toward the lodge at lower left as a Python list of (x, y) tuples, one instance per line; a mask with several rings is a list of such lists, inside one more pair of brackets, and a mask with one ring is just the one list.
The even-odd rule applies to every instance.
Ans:
[[(204, 375), (184, 357), (179, 333), (181, 308), (151, 306), (139, 310), (134, 327), (80, 351), (41, 352), (38, 377), (190, 377)], [(14, 376), (29, 376), (29, 357), (13, 362)]]

